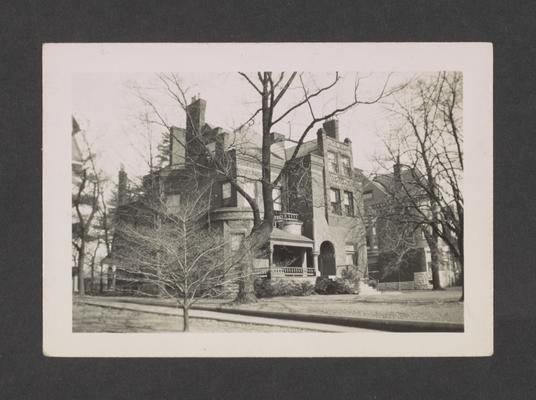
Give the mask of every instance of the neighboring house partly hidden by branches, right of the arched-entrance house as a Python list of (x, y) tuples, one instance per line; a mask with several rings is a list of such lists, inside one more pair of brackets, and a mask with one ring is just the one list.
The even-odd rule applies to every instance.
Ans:
[[(430, 248), (418, 223), (419, 216), (404, 201), (411, 197), (426, 204), (423, 190), (415, 183), (419, 176), (417, 171), (395, 163), (392, 174), (378, 175), (372, 180), (363, 177), (368, 272), (379, 281), (379, 289), (431, 288)], [(439, 252), (441, 286), (453, 286), (460, 274), (457, 263), (441, 241)]]

